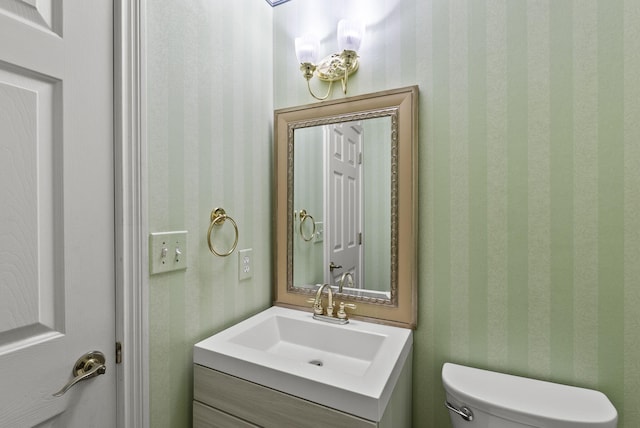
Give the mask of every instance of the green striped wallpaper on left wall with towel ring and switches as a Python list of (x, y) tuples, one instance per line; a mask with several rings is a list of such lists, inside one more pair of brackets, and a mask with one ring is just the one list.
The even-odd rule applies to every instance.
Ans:
[[(150, 426), (182, 428), (193, 344), (272, 300), (272, 10), (256, 0), (146, 6), (149, 228), (189, 232), (188, 269), (149, 278)], [(253, 278), (238, 281), (237, 251), (209, 252), (215, 207), (236, 220), (238, 249), (253, 248)], [(220, 251), (232, 244), (227, 225)]]

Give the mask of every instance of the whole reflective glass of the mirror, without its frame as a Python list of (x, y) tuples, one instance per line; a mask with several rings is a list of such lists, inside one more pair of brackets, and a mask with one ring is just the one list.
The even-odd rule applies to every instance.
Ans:
[(294, 130), (295, 287), (391, 300), (391, 137), (389, 116)]

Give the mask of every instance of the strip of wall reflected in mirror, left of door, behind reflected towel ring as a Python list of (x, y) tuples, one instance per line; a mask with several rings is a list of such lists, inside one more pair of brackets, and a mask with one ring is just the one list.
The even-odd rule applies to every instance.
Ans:
[[(322, 128), (295, 130), (293, 206), (297, 216), (293, 222), (293, 283), (323, 282), (323, 246), (316, 237), (305, 241), (300, 236), (300, 210), (305, 209), (315, 222), (323, 221)], [(304, 224), (309, 232), (310, 220)], [(309, 237), (306, 235), (305, 237)]]

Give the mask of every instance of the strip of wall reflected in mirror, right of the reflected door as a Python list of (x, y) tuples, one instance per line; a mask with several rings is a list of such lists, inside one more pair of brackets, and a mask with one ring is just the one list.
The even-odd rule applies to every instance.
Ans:
[[(391, 282), (391, 119), (364, 127), (364, 277), (367, 290), (389, 291)], [(374, 148), (372, 150), (372, 148)], [(382, 149), (381, 149), (382, 148)]]

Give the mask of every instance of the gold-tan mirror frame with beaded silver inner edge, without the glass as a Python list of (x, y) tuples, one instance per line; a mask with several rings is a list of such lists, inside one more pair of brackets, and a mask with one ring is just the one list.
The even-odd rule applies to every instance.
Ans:
[(418, 87), (276, 110), (275, 305), (311, 311), (313, 288), (293, 285), (293, 137), (295, 129), (360, 119), (392, 122), (391, 298), (337, 294), (356, 309), (351, 318), (415, 328), (417, 325)]

